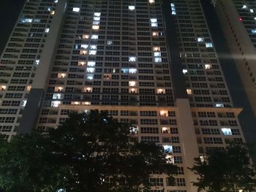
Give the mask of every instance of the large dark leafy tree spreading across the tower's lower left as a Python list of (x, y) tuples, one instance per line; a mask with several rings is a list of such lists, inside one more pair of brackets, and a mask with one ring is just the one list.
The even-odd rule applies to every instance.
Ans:
[[(6, 191), (141, 191), (152, 172), (170, 179), (176, 166), (155, 144), (130, 142), (131, 126), (106, 112), (71, 113), (48, 134), (0, 142), (0, 187)], [(22, 190), (21, 190), (22, 191)]]

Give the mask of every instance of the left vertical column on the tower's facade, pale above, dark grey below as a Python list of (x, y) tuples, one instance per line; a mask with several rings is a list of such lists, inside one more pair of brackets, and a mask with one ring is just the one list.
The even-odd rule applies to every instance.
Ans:
[(37, 123), (39, 110), (42, 106), (45, 89), (48, 85), (48, 76), (52, 68), (56, 46), (59, 42), (59, 31), (61, 30), (62, 20), (67, 1), (59, 1), (56, 7), (56, 15), (50, 25), (50, 31), (42, 50), (42, 56), (34, 77), (31, 91), (20, 120), (18, 134), (29, 134)]

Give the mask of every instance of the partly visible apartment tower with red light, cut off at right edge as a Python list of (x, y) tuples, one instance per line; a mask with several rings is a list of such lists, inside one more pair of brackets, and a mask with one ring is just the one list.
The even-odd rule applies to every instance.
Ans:
[(218, 0), (216, 12), (256, 116), (256, 2)]

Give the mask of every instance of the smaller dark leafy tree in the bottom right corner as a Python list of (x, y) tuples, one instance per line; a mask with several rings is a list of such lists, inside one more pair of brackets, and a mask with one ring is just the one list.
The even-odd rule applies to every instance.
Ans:
[(243, 144), (232, 143), (223, 150), (207, 150), (205, 156), (195, 158), (195, 164), (189, 169), (200, 176), (193, 183), (198, 191), (237, 192), (256, 186), (249, 149)]

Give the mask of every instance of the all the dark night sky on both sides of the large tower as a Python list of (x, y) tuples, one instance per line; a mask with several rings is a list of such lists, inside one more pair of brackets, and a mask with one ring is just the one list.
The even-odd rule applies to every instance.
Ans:
[[(2, 53), (25, 0), (0, 1), (0, 53)], [(225, 39), (223, 37), (222, 31), (220, 30), (214, 9), (209, 3), (210, 1), (201, 0), (201, 2), (205, 9), (208, 26), (211, 29), (211, 35), (214, 39), (214, 45), (217, 48), (217, 53), (222, 53), (222, 55), (225, 55), (225, 53), (228, 54), (229, 50), (227, 45), (223, 43), (225, 42)], [(250, 109), (249, 101), (247, 100), (246, 94), (244, 93), (244, 88), (241, 84), (237, 69), (234, 67), (235, 64), (233, 59), (219, 58), (219, 61), (222, 64), (225, 79), (230, 89), (230, 94), (232, 96), (235, 107), (244, 108), (243, 112), (241, 112), (241, 115), (239, 116), (241, 126), (244, 129), (244, 135), (249, 142), (256, 141), (256, 118)]]

